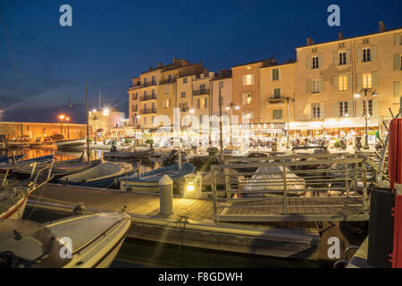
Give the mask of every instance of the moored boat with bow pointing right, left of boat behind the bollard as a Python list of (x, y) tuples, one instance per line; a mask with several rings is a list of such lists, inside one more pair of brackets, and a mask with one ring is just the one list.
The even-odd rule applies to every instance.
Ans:
[(95, 167), (64, 176), (57, 180), (59, 183), (77, 186), (109, 188), (117, 179), (129, 175), (138, 170), (132, 164), (122, 162), (104, 162)]

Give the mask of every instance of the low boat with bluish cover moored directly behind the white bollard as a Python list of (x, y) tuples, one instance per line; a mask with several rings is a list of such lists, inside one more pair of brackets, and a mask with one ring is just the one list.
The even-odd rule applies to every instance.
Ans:
[(195, 167), (193, 164), (181, 164), (181, 169), (179, 168), (179, 164), (172, 164), (154, 171), (125, 176), (119, 180), (120, 189), (129, 191), (158, 192), (159, 180), (161, 180), (164, 175), (168, 175), (172, 181), (176, 183), (176, 181), (194, 171)]

